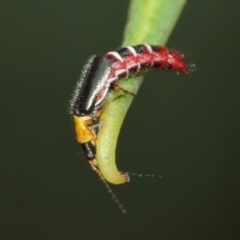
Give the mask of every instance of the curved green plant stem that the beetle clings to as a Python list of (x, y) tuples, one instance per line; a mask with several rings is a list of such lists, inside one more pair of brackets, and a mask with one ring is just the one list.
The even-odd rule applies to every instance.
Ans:
[[(165, 45), (186, 0), (132, 0), (129, 9), (128, 22), (125, 28), (123, 46), (142, 43)], [(143, 80), (143, 74), (119, 81), (122, 88), (137, 93)], [(114, 99), (119, 93), (111, 93), (109, 99)], [(133, 97), (124, 95), (116, 101), (107, 104), (100, 118), (100, 130), (97, 139), (97, 161), (104, 178), (115, 184), (123, 178), (115, 165), (115, 149), (122, 122), (131, 105)], [(126, 155), (127, 156), (127, 155)]]

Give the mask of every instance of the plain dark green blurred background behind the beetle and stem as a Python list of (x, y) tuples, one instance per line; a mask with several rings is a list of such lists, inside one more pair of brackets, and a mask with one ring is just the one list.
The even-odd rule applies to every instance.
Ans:
[[(68, 101), (91, 54), (118, 47), (128, 1), (1, 1), (0, 239), (240, 239), (239, 1), (188, 1), (124, 122), (112, 186), (75, 141)], [(138, 29), (141, 31), (141, 29)]]

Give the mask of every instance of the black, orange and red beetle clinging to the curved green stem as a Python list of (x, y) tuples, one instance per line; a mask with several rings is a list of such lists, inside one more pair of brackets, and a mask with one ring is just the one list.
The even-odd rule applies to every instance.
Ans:
[[(122, 47), (117, 51), (108, 52), (104, 56), (93, 55), (90, 57), (83, 68), (81, 78), (70, 101), (70, 113), (74, 118), (77, 141), (81, 144), (83, 153), (92, 169), (103, 180), (123, 212), (125, 212), (124, 207), (112, 193), (105, 180), (106, 176), (100, 171), (96, 159), (96, 139), (101, 125), (100, 116), (107, 104), (106, 97), (109, 91), (121, 90), (135, 96), (134, 93), (119, 87), (118, 80), (137, 75), (150, 68), (162, 68), (184, 74), (189, 71), (183, 56), (166, 47), (148, 44)], [(112, 164), (110, 171), (112, 174), (120, 174), (121, 177), (120, 181), (116, 180), (111, 183), (120, 184), (130, 180), (129, 173), (118, 172), (115, 163)], [(132, 175), (155, 177), (155, 175)]]

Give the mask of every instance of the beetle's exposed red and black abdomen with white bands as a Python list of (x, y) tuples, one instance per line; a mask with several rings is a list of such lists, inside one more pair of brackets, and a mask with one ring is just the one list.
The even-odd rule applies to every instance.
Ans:
[(121, 78), (127, 78), (131, 74), (138, 74), (142, 70), (163, 68), (188, 73), (182, 55), (161, 46), (141, 44), (122, 47), (117, 51), (108, 52), (104, 57), (110, 61), (111, 71), (104, 88), (96, 100), (96, 105), (106, 96), (110, 84)]

